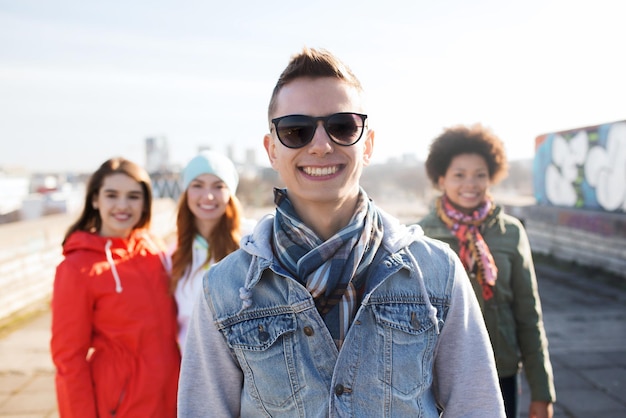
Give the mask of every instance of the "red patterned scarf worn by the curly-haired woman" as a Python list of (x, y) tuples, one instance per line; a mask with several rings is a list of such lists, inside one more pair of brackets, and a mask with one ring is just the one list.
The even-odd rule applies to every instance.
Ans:
[(490, 216), (495, 205), (485, 200), (471, 215), (458, 211), (444, 195), (437, 199), (437, 215), (459, 240), (459, 258), (468, 273), (474, 273), (483, 292), (483, 299), (493, 297), (498, 268), (480, 233), (480, 225)]

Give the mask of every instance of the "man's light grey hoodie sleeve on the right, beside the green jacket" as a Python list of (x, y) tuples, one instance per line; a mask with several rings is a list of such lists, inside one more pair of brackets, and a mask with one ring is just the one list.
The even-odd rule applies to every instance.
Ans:
[(435, 357), (434, 387), (442, 417), (503, 417), (489, 335), (460, 260), (452, 255), (452, 301)]

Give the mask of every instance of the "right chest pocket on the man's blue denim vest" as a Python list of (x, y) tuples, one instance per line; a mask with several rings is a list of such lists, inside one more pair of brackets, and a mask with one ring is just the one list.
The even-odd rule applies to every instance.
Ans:
[(417, 303), (373, 305), (382, 361), (378, 378), (404, 395), (417, 396), (430, 384), (437, 335), (428, 307)]

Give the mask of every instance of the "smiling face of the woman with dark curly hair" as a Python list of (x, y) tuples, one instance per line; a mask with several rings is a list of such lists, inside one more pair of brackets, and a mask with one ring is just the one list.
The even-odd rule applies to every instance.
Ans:
[(457, 209), (470, 214), (487, 197), (489, 167), (478, 154), (459, 154), (452, 159), (446, 173), (439, 177), (438, 184)]

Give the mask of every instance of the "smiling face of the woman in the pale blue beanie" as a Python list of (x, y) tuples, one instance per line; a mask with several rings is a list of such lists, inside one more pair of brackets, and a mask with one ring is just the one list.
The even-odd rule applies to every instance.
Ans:
[(207, 238), (226, 212), (231, 192), (214, 174), (201, 174), (187, 187), (187, 206), (195, 216), (198, 231)]

